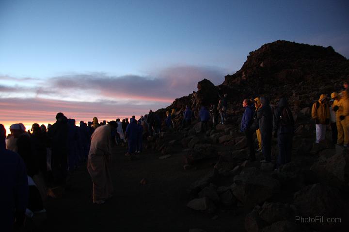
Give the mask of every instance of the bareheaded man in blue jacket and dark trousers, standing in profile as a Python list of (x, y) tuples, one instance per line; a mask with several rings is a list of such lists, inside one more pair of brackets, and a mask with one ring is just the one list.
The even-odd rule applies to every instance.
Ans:
[(250, 161), (254, 161), (255, 151), (253, 134), (255, 129), (251, 128), (251, 125), (253, 124), (254, 107), (251, 106), (249, 99), (243, 100), (242, 107), (245, 108), (245, 111), (242, 115), (240, 131), (245, 133), (247, 146), (250, 150), (249, 159)]

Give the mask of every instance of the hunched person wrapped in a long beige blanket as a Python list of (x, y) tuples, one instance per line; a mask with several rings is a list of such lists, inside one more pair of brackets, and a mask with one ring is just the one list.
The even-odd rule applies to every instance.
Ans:
[(87, 170), (93, 182), (93, 202), (103, 204), (111, 198), (113, 186), (108, 169), (110, 162), (111, 130), (116, 129), (118, 124), (115, 121), (99, 126), (91, 136), (91, 147), (87, 159)]

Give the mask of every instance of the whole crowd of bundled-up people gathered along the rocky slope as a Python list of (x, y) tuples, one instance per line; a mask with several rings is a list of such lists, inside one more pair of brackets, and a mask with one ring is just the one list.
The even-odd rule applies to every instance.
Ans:
[[(333, 143), (348, 147), (349, 144), (349, 84), (345, 90), (332, 93), (328, 100), (321, 94), (313, 104), (312, 119), (316, 124), (316, 143), (325, 140), (326, 127), (331, 124)], [(279, 99), (278, 108), (272, 110), (266, 97), (244, 99), (244, 112), (240, 131), (244, 133), (249, 149), (249, 159), (255, 161), (256, 152), (264, 155), (262, 163), (271, 162), (272, 137), (278, 138), (279, 154), (276, 168), (280, 168), (291, 159), (294, 119), (288, 107), (286, 97)], [(227, 94), (219, 100), (218, 106), (205, 106), (198, 112), (201, 131), (210, 125), (224, 124), (227, 119)], [(23, 225), (24, 218), (45, 213), (43, 201), (50, 195), (48, 189), (67, 187), (67, 176), (79, 165), (87, 161), (87, 170), (93, 180), (93, 202), (104, 203), (112, 196), (113, 187), (108, 170), (113, 146), (127, 147), (126, 156), (142, 153), (146, 138), (159, 136), (164, 128), (188, 127), (194, 120), (194, 113), (189, 106), (179, 114), (175, 109), (166, 111), (161, 119), (152, 110), (138, 120), (132, 116), (101, 123), (93, 118), (92, 122), (68, 119), (63, 113), (57, 113), (56, 122), (45, 125), (32, 124), (26, 131), (23, 124), (12, 124), (11, 134), (6, 136), (5, 128), (0, 124), (0, 171), (4, 190), (1, 223), (5, 231), (13, 226)], [(174, 118), (183, 117), (181, 124)], [(254, 133), (258, 140), (254, 144)], [(257, 147), (257, 150), (256, 150)], [(52, 191), (51, 191), (52, 192)], [(56, 195), (50, 195), (57, 197)], [(4, 220), (4, 221), (2, 221)], [(15, 223), (14, 223), (15, 222)], [(7, 230), (8, 229), (8, 230)]]

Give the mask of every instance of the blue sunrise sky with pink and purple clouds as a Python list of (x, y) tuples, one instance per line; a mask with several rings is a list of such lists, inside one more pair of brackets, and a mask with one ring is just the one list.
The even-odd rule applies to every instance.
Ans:
[(347, 0), (0, 0), (0, 124), (137, 117), (288, 40), (349, 58)]

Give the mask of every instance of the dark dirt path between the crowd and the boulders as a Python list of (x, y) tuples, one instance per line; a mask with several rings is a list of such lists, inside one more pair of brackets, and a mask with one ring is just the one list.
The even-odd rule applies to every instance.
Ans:
[[(124, 153), (125, 149), (118, 147), (112, 155), (112, 199), (103, 205), (92, 203), (92, 181), (86, 164), (82, 164), (72, 175), (72, 188), (65, 197), (48, 199), (45, 231), (242, 230), (241, 222), (237, 224), (238, 218), (225, 211), (217, 211), (215, 215), (219, 217), (213, 220), (214, 215), (186, 207), (187, 188), (212, 169), (210, 162), (201, 163), (196, 170), (185, 171), (181, 154), (161, 160), (159, 155), (145, 152), (130, 161)], [(140, 184), (143, 178), (148, 184)]]

